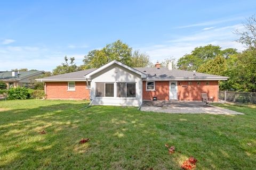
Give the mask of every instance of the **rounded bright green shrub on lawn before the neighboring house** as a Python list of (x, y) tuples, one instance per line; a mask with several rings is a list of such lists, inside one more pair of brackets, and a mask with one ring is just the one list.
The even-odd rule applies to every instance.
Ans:
[(7, 91), (7, 99), (28, 99), (31, 96), (29, 89), (25, 87), (11, 88)]

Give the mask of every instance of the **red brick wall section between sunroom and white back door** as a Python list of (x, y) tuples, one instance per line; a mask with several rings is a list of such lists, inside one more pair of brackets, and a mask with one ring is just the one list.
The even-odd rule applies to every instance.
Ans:
[(155, 81), (155, 91), (146, 91), (146, 81), (143, 81), (143, 100), (169, 100), (169, 81)]

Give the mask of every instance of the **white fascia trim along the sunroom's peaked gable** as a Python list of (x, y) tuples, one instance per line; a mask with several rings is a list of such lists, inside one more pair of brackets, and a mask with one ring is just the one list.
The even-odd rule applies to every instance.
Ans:
[(120, 62), (114, 60), (114, 61), (109, 62), (108, 64), (103, 65), (102, 67), (99, 67), (99, 69), (96, 69), (96, 70), (92, 71), (91, 73), (86, 74), (86, 75), (84, 76), (84, 78), (87, 78), (87, 79), (89, 78), (89, 79), (90, 79), (91, 75), (96, 74), (96, 73), (98, 73), (98, 72), (100, 72), (100, 71), (106, 69), (106, 68), (109, 67), (110, 65), (113, 65), (113, 64), (118, 64), (118, 65), (124, 67), (125, 69), (128, 69), (128, 70), (130, 70), (130, 71), (132, 71), (132, 72), (135, 72), (135, 73), (141, 75), (141, 78), (146, 78), (146, 77), (147, 77), (146, 74), (144, 74), (144, 73), (142, 73), (142, 72), (140, 72), (140, 71), (138, 71), (138, 70), (136, 70), (136, 69), (133, 69), (133, 68), (130, 67), (130, 66), (127, 66), (127, 65), (125, 65), (125, 64), (123, 64), (123, 63), (120, 63)]

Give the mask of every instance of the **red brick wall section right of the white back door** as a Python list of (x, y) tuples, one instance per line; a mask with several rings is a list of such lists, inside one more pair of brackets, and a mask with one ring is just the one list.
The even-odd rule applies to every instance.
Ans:
[(200, 82), (201, 84), (197, 85), (197, 81), (191, 81), (192, 84), (188, 85), (188, 81), (178, 81), (178, 99), (186, 101), (200, 101), (202, 100), (201, 92), (206, 92), (209, 98), (212, 97), (214, 101), (218, 101), (218, 81), (209, 81), (209, 85), (206, 85), (206, 81)]

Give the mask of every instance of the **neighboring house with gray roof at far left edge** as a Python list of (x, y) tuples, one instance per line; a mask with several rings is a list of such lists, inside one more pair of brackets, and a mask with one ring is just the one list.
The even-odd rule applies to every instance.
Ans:
[(44, 73), (44, 71), (0, 71), (0, 81), (4, 81), (7, 88), (28, 87), (31, 81)]

